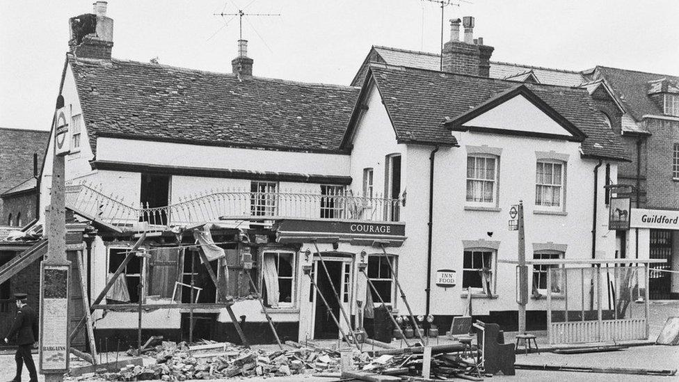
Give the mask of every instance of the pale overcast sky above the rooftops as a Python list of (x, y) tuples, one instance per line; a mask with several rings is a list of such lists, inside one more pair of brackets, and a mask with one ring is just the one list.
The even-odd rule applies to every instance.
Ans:
[[(677, 0), (457, 0), (493, 61), (595, 65), (679, 75)], [(372, 45), (440, 51), (440, 6), (426, 0), (110, 0), (113, 57), (231, 72), (243, 17), (253, 74), (348, 85)], [(69, 17), (92, 1), (0, 1), (0, 127), (49, 129)]]

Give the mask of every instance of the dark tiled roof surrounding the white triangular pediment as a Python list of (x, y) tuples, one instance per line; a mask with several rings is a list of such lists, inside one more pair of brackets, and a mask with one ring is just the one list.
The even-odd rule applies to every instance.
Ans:
[[(441, 125), (444, 118), (461, 115), (517, 86), (515, 81), (416, 68), (372, 65), (371, 70), (399, 141), (454, 144), (455, 138)], [(620, 138), (606, 125), (586, 89), (525, 86), (586, 134), (581, 143), (584, 155), (628, 160)]]

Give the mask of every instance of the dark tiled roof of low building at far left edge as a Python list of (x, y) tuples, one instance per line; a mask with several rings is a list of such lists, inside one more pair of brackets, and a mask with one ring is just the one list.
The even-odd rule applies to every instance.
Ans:
[(0, 193), (33, 176), (33, 152), (38, 153), (40, 170), (48, 140), (49, 132), (0, 128)]

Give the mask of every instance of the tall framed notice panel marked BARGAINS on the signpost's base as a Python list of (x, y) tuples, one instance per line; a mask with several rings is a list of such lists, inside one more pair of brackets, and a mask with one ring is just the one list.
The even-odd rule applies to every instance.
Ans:
[(40, 372), (68, 371), (70, 262), (40, 264)]

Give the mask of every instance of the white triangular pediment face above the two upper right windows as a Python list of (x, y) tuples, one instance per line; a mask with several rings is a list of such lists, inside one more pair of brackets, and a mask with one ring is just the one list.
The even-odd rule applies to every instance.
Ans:
[(523, 95), (516, 95), (463, 126), (573, 136)]

